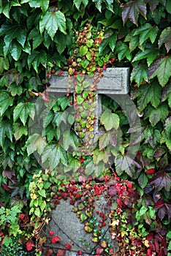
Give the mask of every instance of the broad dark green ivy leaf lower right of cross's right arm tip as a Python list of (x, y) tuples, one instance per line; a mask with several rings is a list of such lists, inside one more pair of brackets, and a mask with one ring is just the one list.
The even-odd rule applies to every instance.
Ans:
[(144, 110), (149, 102), (151, 102), (154, 108), (157, 108), (161, 99), (161, 86), (159, 86), (157, 81), (153, 81), (151, 85), (142, 85), (134, 94), (134, 99), (135, 98), (137, 98), (137, 105), (140, 111)]

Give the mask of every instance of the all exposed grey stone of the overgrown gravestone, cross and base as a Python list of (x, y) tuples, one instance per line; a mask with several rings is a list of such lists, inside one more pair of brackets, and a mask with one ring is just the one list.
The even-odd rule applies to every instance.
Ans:
[[(88, 77), (86, 79), (89, 79)], [(64, 72), (61, 76), (52, 75), (50, 78), (50, 87), (47, 89), (48, 92), (53, 94), (67, 94), (69, 87), (69, 75), (68, 72)], [(75, 91), (75, 86), (70, 84), (70, 92)], [(102, 101), (101, 94), (127, 94), (129, 92), (129, 68), (118, 67), (118, 68), (107, 68), (103, 72), (103, 77), (99, 80), (96, 90), (96, 129), (95, 133), (98, 133), (98, 119), (102, 114)], [(105, 197), (101, 197), (100, 200), (96, 201), (96, 209), (104, 211), (106, 208), (107, 201)], [(91, 255), (91, 250), (88, 249), (86, 244), (79, 241), (80, 238), (84, 238), (87, 241), (91, 241), (91, 233), (88, 234), (84, 230), (84, 224), (80, 223), (77, 218), (77, 214), (72, 211), (73, 206), (69, 204), (69, 201), (61, 200), (60, 205), (56, 207), (50, 214), (50, 222), (46, 225), (45, 229), (40, 234), (42, 237), (47, 236), (47, 242), (44, 244), (43, 255), (45, 255), (46, 248), (53, 248), (55, 252), (58, 249), (66, 249), (65, 244), (72, 244), (72, 248), (66, 251), (66, 256), (77, 256), (77, 251), (83, 251), (83, 255)], [(96, 216), (98, 219), (98, 216)], [(110, 219), (109, 219), (110, 221)], [(111, 237), (108, 227), (104, 227), (104, 233), (106, 236)], [(53, 230), (54, 235), (61, 238), (60, 243), (50, 244), (49, 231)], [(118, 244), (115, 240), (110, 240), (113, 244), (114, 252), (118, 251)], [(90, 244), (96, 248), (96, 244)]]

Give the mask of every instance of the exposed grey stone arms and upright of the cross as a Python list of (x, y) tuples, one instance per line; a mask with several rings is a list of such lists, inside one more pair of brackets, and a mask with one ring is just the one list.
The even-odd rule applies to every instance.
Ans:
[[(102, 98), (101, 94), (127, 94), (129, 92), (129, 67), (107, 68), (102, 72), (102, 78), (99, 78), (96, 90), (95, 101), (95, 123), (94, 135), (98, 134), (99, 116), (102, 115)], [(52, 75), (50, 78), (50, 87), (48, 92), (67, 94), (75, 92), (75, 85), (69, 84), (68, 72), (63, 72), (62, 75)], [(75, 99), (75, 98), (74, 98)], [(86, 140), (86, 138), (84, 138)]]

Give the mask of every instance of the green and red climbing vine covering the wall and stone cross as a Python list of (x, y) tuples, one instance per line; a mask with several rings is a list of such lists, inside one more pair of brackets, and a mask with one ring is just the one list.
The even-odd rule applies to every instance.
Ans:
[[(1, 255), (41, 255), (47, 239), (41, 230), (66, 197), (93, 234), (92, 253), (114, 253), (101, 236), (107, 217), (118, 254), (170, 255), (170, 13), (169, 0), (0, 1)], [(96, 86), (107, 67), (130, 67), (129, 95), (141, 127), (129, 127), (118, 103), (103, 95), (102, 134), (91, 155), (79, 154), (85, 134), (95, 129)], [(68, 91), (50, 100), (45, 90), (50, 79), (66, 71), (75, 95)], [(74, 110), (67, 110), (72, 105), (77, 125)], [(31, 127), (36, 131), (30, 133)], [(140, 147), (131, 167), (123, 168), (137, 131)], [(88, 136), (89, 142), (94, 139)], [(91, 204), (102, 193), (109, 212), (96, 213), (96, 226)], [(52, 243), (60, 243), (53, 235)], [(58, 255), (66, 249), (70, 244)]]

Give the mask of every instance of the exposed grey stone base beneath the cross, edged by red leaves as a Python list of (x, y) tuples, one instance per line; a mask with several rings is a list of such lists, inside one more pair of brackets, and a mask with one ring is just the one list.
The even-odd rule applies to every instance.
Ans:
[[(107, 201), (105, 197), (102, 196), (99, 200), (96, 200), (95, 203), (96, 211), (107, 212)], [(92, 233), (86, 233), (84, 230), (84, 224), (80, 223), (80, 219), (77, 218), (77, 214), (72, 211), (73, 206), (70, 205), (69, 200), (61, 200), (61, 203), (53, 210), (50, 214), (50, 222), (42, 230), (40, 236), (46, 236), (47, 242), (44, 245), (43, 255), (45, 255), (45, 250), (47, 248), (52, 248), (56, 253), (58, 249), (66, 249), (65, 244), (72, 244), (72, 249), (66, 251), (66, 256), (77, 256), (77, 251), (81, 250), (84, 256), (91, 255), (93, 248), (96, 248), (96, 244), (91, 241)], [(99, 216), (96, 215), (96, 222), (99, 221)], [(110, 219), (107, 220), (110, 222)], [(108, 230), (108, 226), (104, 226), (104, 236), (111, 237)], [(59, 236), (61, 238), (60, 243), (52, 244), (50, 243), (49, 231), (54, 231), (54, 236)], [(85, 239), (90, 243), (91, 249), (88, 249), (87, 244), (83, 244), (82, 241), (79, 241), (80, 238)], [(115, 252), (118, 250), (118, 245), (115, 240), (109, 240), (110, 244), (113, 245)]]

